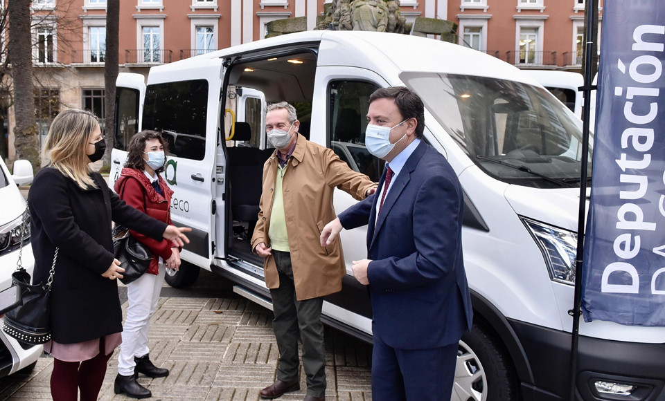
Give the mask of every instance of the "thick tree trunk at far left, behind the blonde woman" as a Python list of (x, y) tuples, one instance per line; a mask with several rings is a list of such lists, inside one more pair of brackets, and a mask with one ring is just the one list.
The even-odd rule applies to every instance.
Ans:
[(33, 55), (30, 35), (30, 1), (8, 1), (9, 58), (14, 88), (14, 143), (17, 158), (26, 159), (39, 170), (39, 140), (35, 122)]

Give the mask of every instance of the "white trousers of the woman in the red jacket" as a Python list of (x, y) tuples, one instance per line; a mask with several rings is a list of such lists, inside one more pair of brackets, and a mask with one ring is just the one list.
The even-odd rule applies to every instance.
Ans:
[(127, 284), (127, 319), (123, 326), (123, 344), (118, 355), (118, 373), (134, 374), (134, 357), (148, 355), (148, 329), (150, 317), (157, 310), (159, 292), (164, 283), (166, 266), (159, 265), (159, 274), (145, 273)]

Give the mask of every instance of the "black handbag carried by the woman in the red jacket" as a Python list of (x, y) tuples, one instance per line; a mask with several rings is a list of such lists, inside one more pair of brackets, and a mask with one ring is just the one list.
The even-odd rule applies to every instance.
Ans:
[(120, 279), (123, 283), (129, 284), (148, 271), (152, 253), (143, 243), (136, 241), (127, 227), (114, 227), (113, 251), (116, 259), (120, 261), (120, 267), (125, 269), (123, 278)]

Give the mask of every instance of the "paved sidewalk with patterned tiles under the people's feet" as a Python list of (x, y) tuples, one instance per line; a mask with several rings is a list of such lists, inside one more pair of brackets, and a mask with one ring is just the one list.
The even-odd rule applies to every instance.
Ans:
[[(275, 380), (272, 312), (220, 283), (215, 274), (203, 271), (195, 290), (163, 288), (151, 319), (150, 358), (170, 369), (170, 375), (139, 376), (152, 391), (150, 400), (259, 400), (258, 391)], [(120, 292), (125, 313), (126, 288)], [(113, 391), (117, 353), (109, 361), (100, 400), (129, 399)], [(371, 346), (326, 328), (326, 400), (371, 400), (370, 364)], [(1, 379), (0, 400), (51, 400), (52, 369), (53, 359), (44, 356), (32, 373)], [(305, 387), (301, 373), (301, 391), (278, 400), (302, 400)]]

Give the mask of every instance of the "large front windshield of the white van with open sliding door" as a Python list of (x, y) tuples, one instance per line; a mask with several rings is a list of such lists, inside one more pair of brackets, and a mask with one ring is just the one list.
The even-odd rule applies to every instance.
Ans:
[[(579, 186), (582, 124), (546, 90), (467, 75), (405, 72), (400, 78), (490, 176), (529, 187)], [(590, 155), (589, 145), (589, 179)]]

